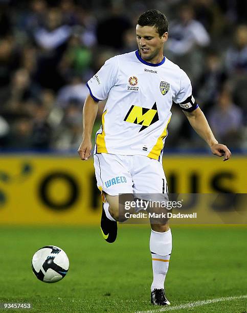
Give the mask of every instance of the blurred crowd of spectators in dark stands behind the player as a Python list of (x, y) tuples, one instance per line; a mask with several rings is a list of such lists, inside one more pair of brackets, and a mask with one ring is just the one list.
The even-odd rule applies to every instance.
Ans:
[[(247, 2), (241, 0), (0, 0), (0, 149), (76, 151), (86, 81), (106, 59), (137, 49), (137, 18), (154, 8), (169, 21), (164, 54), (190, 77), (216, 138), (245, 150)], [(166, 147), (204, 148), (176, 105), (172, 114)]]

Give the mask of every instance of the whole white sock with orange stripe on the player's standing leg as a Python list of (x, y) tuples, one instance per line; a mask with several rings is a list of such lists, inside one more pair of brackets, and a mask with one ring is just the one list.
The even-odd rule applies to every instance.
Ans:
[(160, 233), (151, 230), (150, 251), (152, 255), (153, 289), (164, 289), (166, 274), (168, 271), (170, 254), (172, 250), (171, 230)]

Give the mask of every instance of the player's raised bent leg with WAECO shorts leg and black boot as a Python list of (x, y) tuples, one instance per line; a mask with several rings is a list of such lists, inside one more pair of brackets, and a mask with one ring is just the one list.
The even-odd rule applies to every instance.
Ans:
[(132, 178), (124, 155), (99, 153), (94, 155), (97, 185), (102, 193), (101, 232), (107, 242), (117, 237), (117, 221), (124, 221), (119, 194), (132, 199)]

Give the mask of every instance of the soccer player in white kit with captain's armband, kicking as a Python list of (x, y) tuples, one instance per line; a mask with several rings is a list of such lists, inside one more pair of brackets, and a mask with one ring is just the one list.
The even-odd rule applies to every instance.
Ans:
[[(231, 155), (215, 139), (192, 96), (186, 73), (163, 55), (168, 39), (164, 14), (157, 10), (141, 14), (136, 34), (137, 51), (110, 58), (87, 82), (89, 95), (83, 107), (83, 138), (78, 153), (81, 160), (88, 160), (98, 102), (108, 98), (94, 150), (97, 185), (104, 197), (101, 231), (107, 242), (114, 242), (117, 237), (119, 194), (134, 197), (168, 193), (162, 154), (173, 102), (183, 110), (213, 154), (223, 157), (223, 161)], [(171, 250), (168, 221), (151, 223), (151, 303), (154, 305), (170, 304), (164, 282)]]

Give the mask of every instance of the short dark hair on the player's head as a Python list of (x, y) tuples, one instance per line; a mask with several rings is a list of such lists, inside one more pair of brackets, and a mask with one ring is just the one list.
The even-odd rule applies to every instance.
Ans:
[(142, 13), (137, 21), (140, 26), (155, 26), (159, 36), (168, 32), (168, 20), (166, 16), (158, 10), (148, 10)]

